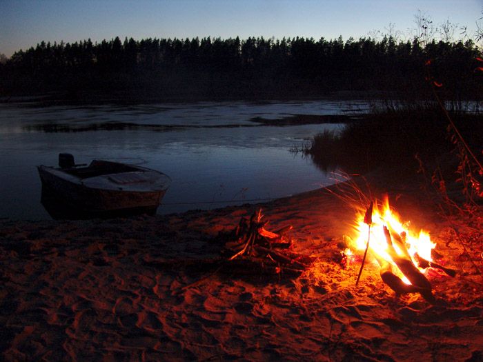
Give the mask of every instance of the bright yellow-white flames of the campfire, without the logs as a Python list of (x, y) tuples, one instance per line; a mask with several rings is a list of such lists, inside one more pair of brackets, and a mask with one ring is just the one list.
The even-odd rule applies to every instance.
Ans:
[[(436, 244), (431, 241), (427, 232), (420, 230), (419, 233), (415, 233), (411, 230), (409, 221), (403, 223), (400, 216), (391, 209), (387, 197), (384, 199), (382, 205), (375, 203), (372, 214), (369, 250), (374, 257), (384, 259), (384, 261), (391, 263), (395, 267), (393, 268), (395, 274), (400, 276), (404, 283), (411, 284), (406, 276), (397, 268), (395, 261), (388, 252), (388, 242), (384, 233), (384, 226), (391, 232), (391, 237), (394, 241), (393, 247), (397, 254), (400, 257), (411, 257), (415, 266), (423, 273), (425, 270), (419, 268), (417, 255), (427, 261), (432, 261), (431, 250), (435, 248)], [(364, 210), (360, 210), (355, 222), (357, 237), (350, 246), (353, 248), (353, 251), (364, 251), (366, 249), (368, 228), (369, 225), (364, 223)], [(378, 263), (378, 261), (373, 258), (373, 263)]]

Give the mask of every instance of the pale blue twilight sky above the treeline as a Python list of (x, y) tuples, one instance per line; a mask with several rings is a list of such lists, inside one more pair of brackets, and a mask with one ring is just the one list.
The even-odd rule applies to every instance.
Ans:
[(436, 26), (449, 20), (467, 26), (473, 36), (483, 0), (0, 0), (0, 53), (10, 57), (43, 40), (95, 42), (116, 36), (317, 40), (342, 35), (346, 40), (375, 30), (387, 33), (389, 23), (411, 37), (418, 10)]

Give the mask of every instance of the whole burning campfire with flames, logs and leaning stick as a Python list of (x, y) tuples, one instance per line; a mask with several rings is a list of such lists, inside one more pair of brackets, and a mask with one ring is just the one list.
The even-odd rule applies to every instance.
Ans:
[(364, 262), (380, 266), (380, 274), (397, 294), (419, 292), (424, 299), (434, 301), (431, 283), (425, 276), (428, 268), (442, 270), (455, 276), (455, 270), (436, 263), (436, 246), (427, 232), (414, 232), (409, 222), (403, 223), (390, 207), (388, 198), (382, 203), (373, 203), (357, 214), (355, 229), (357, 237), (345, 237), (344, 254), (347, 257), (361, 255), (357, 282), (364, 268)]

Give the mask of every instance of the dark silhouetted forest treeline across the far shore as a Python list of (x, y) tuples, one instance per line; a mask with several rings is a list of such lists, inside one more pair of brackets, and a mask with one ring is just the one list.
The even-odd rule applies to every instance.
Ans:
[(91, 100), (273, 99), (338, 90), (426, 97), (429, 76), (446, 97), (461, 99), (483, 94), (477, 57), (472, 41), (423, 45), (393, 37), (41, 42), (0, 65), (0, 92)]

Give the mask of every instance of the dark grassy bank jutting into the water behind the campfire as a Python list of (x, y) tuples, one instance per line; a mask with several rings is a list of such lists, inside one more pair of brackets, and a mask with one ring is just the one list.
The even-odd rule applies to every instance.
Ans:
[[(462, 137), (482, 161), (482, 114), (450, 114)], [(348, 123), (342, 132), (317, 134), (304, 153), (323, 170), (342, 166), (349, 173), (375, 168), (415, 172), (420, 165), (437, 165), (442, 159), (457, 163), (458, 141), (442, 110), (419, 108), (384, 110)], [(455, 170), (453, 178), (457, 176)]]

